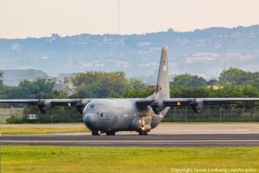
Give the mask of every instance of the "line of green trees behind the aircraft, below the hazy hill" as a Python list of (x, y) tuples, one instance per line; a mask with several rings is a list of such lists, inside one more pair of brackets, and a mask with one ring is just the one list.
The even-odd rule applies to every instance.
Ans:
[[(0, 72), (0, 78), (2, 77)], [(53, 91), (54, 82), (45, 79), (24, 80), (18, 86), (3, 86), (0, 80), (0, 99), (64, 99), (64, 98), (145, 98), (155, 89), (149, 90), (147, 83), (137, 78), (125, 78), (125, 72), (76, 73), (62, 91)], [(171, 98), (199, 97), (259, 97), (259, 72), (245, 72), (231, 67), (222, 71), (215, 86), (208, 86), (207, 81), (191, 74), (173, 75), (170, 82)], [(0, 107), (12, 106), (1, 104)], [(16, 106), (16, 104), (13, 104)], [(225, 105), (226, 108), (255, 108), (259, 103), (240, 103)], [(217, 106), (214, 106), (217, 107)]]

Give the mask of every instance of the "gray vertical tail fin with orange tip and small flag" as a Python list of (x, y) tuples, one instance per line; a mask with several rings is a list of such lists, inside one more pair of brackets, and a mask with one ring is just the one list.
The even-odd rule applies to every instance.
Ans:
[(160, 65), (159, 65), (158, 78), (157, 78), (156, 92), (149, 97), (156, 98), (156, 99), (170, 98), (166, 47), (162, 48), (162, 54), (161, 54), (161, 60), (160, 60)]

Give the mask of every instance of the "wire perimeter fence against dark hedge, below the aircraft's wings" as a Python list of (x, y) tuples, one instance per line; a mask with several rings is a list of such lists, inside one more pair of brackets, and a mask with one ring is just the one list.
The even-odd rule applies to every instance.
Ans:
[[(3, 109), (0, 109), (0, 114)], [(4, 110), (6, 111), (6, 110)], [(11, 109), (9, 112), (14, 112)], [(28, 119), (28, 114), (37, 115), (37, 119)], [(3, 121), (3, 117), (1, 121)], [(39, 109), (30, 110), (27, 108), (5, 116), (6, 123), (19, 124), (19, 123), (81, 123), (82, 115), (76, 108), (67, 109), (66, 107), (60, 109), (52, 109), (46, 114), (41, 113)], [(35, 116), (34, 116), (35, 117)], [(203, 109), (201, 113), (196, 114), (193, 110), (170, 108), (161, 122), (259, 122), (259, 110), (255, 109)]]

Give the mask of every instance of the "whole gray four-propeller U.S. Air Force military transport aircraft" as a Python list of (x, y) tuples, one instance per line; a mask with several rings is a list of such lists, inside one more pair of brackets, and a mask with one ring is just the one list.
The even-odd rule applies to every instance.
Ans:
[(203, 106), (237, 104), (241, 101), (259, 101), (259, 98), (170, 98), (167, 50), (162, 48), (156, 90), (147, 98), (138, 99), (12, 99), (1, 103), (38, 105), (42, 113), (54, 106), (76, 106), (83, 115), (82, 122), (92, 135), (115, 135), (118, 131), (137, 131), (148, 135), (157, 127), (170, 107), (191, 106), (199, 113)]

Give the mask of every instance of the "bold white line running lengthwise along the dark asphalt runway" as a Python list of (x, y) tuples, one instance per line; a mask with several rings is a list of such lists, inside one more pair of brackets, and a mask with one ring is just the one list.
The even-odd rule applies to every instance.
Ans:
[(15, 140), (1, 140), (0, 142), (259, 142), (259, 140), (180, 140), (180, 141), (15, 141)]

